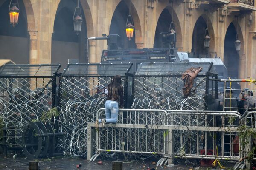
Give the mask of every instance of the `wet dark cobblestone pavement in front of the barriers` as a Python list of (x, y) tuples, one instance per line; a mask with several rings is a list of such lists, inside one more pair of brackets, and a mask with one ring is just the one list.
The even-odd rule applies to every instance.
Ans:
[[(76, 165), (81, 164), (79, 170), (112, 170), (112, 162), (104, 161), (102, 165), (89, 162), (87, 159), (58, 157), (52, 159), (38, 159), (40, 170), (78, 170)], [(0, 156), (0, 170), (28, 170), (29, 160), (26, 158), (4, 158)], [(174, 167), (156, 167), (152, 161), (134, 161), (123, 164), (123, 170), (147, 170), (147, 168), (155, 170), (206, 170), (207, 167), (191, 168), (191, 165), (175, 165)]]

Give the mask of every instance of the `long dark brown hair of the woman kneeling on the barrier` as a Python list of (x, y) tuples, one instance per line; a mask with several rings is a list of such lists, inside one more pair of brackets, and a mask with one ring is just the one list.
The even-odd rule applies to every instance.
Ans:
[(111, 99), (119, 99), (119, 89), (122, 88), (122, 81), (121, 81), (121, 76), (120, 75), (116, 75), (112, 82), (108, 85), (109, 88), (109, 94), (108, 96), (110, 96)]

